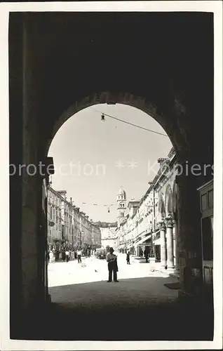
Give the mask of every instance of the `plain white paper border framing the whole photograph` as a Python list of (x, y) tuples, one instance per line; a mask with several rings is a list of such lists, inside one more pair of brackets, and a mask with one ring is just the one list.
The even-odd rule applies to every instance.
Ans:
[[(214, 177), (214, 303), (213, 341), (45, 341), (9, 338), (9, 123), (8, 18), (10, 12), (211, 12), (215, 37), (215, 177)], [(0, 4), (1, 105), (1, 350), (203, 350), (222, 349), (222, 1), (74, 1)]]

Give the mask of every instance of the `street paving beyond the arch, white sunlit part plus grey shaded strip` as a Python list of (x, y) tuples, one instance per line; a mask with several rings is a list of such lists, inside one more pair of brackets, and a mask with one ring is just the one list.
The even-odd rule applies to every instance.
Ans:
[[(157, 304), (161, 301), (173, 301), (177, 298), (176, 290), (170, 290), (163, 285), (171, 281), (167, 278), (168, 274), (151, 272), (149, 263), (140, 264), (132, 260), (132, 265), (127, 265), (126, 256), (119, 256), (119, 284), (107, 283), (105, 260), (83, 258), (82, 263), (86, 264), (86, 267), (81, 267), (77, 261), (56, 263), (55, 270), (49, 272), (49, 286), (54, 285), (50, 288), (52, 302), (72, 303), (75, 307), (101, 308), (111, 305), (114, 308), (121, 307), (123, 303), (134, 307), (148, 302)], [(57, 266), (60, 267), (60, 271)]]

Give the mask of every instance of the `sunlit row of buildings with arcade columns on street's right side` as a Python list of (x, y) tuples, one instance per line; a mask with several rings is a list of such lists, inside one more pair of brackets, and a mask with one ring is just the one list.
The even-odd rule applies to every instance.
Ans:
[(177, 244), (177, 175), (175, 151), (158, 159), (160, 168), (140, 201), (128, 202), (128, 215), (118, 222), (119, 250), (140, 255), (148, 251), (170, 272), (179, 273)]

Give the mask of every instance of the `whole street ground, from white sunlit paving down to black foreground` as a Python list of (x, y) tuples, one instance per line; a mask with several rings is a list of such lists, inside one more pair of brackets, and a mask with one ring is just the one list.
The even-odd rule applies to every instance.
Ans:
[[(168, 274), (119, 255), (119, 283), (107, 283), (105, 260), (49, 265), (47, 340), (210, 340), (208, 310), (179, 304)], [(156, 264), (155, 267), (158, 267)], [(208, 314), (209, 313), (209, 314)]]

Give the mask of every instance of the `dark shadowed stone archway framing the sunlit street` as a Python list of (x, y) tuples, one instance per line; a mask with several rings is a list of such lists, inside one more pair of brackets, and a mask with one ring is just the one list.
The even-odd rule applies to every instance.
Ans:
[[(112, 20), (104, 13), (11, 13), (10, 163), (45, 160), (69, 117), (90, 105), (114, 102), (156, 119), (170, 137), (177, 161), (212, 163), (212, 13), (193, 18), (191, 22), (187, 13), (142, 13), (142, 18), (116, 13)], [(177, 179), (183, 267), (190, 267), (201, 252), (196, 188), (202, 181)], [(11, 177), (12, 311), (45, 300), (42, 182), (39, 173)], [(166, 214), (163, 204), (161, 213)], [(187, 270), (182, 275), (188, 275), (183, 288), (190, 289)]]

